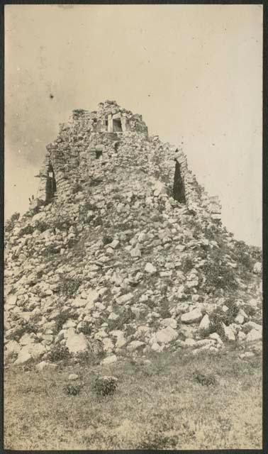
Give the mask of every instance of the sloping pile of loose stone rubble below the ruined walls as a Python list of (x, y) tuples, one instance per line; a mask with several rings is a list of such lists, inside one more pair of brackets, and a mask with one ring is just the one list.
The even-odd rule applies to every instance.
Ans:
[[(217, 352), (226, 342), (243, 358), (262, 347), (260, 259), (245, 274), (233, 236), (143, 172), (138, 156), (150, 141), (124, 140), (120, 165), (102, 170), (99, 184), (80, 181), (6, 227), (6, 364), (34, 360), (42, 370), (65, 353), (110, 364), (150, 351)], [(215, 258), (233, 291), (211, 288)], [(230, 299), (231, 323), (211, 331), (215, 311), (231, 311)]]

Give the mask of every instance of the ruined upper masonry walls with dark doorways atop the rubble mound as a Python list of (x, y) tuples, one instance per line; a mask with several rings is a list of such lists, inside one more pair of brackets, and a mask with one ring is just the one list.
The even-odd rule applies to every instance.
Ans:
[(143, 117), (116, 101), (100, 103), (97, 111), (73, 111), (47, 150), (31, 208), (48, 204), (55, 196), (64, 203), (79, 188), (93, 190), (96, 184), (106, 189), (116, 184), (122, 192), (144, 194), (156, 185), (180, 204), (220, 221), (218, 199), (198, 184), (182, 150), (162, 143), (157, 135), (150, 137)]

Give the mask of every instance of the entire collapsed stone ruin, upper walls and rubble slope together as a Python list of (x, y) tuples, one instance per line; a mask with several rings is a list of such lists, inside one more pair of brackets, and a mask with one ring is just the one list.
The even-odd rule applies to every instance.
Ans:
[(105, 101), (47, 151), (37, 197), (6, 225), (7, 362), (260, 348), (260, 251), (221, 225), (182, 150)]

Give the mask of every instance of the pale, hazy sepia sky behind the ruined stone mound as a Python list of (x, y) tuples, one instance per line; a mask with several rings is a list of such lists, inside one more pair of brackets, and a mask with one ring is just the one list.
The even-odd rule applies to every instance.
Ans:
[(116, 99), (183, 142), (225, 226), (261, 244), (262, 5), (6, 5), (5, 37), (7, 217), (58, 123)]

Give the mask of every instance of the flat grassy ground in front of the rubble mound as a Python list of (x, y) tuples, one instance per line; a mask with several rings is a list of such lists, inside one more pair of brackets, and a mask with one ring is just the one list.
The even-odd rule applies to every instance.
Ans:
[[(150, 364), (72, 365), (52, 372), (6, 370), (6, 449), (261, 448), (262, 358), (238, 351), (155, 354)], [(202, 385), (198, 370), (216, 378)], [(81, 391), (67, 396), (69, 373)], [(92, 390), (96, 375), (118, 377), (111, 397)], [(75, 382), (77, 384), (77, 382)]]

